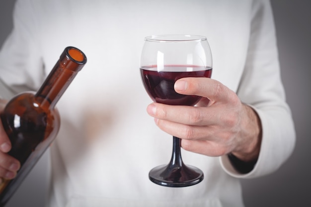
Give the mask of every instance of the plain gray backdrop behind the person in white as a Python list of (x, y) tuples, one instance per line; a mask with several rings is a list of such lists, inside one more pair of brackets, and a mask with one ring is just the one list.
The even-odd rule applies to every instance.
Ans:
[[(12, 28), (15, 0), (0, 0), (0, 45)], [(297, 145), (274, 174), (242, 180), (246, 207), (311, 207), (311, 1), (271, 0), (276, 22), (282, 78), (292, 108)], [(309, 92), (308, 92), (309, 91)], [(48, 154), (23, 182), (6, 207), (43, 207)]]

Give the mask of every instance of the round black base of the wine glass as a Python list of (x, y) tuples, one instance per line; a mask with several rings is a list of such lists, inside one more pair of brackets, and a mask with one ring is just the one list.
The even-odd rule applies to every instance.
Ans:
[(191, 165), (160, 165), (149, 172), (149, 179), (160, 186), (187, 187), (200, 183), (204, 178), (202, 170)]

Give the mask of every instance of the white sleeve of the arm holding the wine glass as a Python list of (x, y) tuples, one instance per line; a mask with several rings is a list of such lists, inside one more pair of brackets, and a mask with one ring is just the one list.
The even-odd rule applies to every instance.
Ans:
[(253, 0), (251, 16), (247, 58), (237, 95), (257, 112), (262, 140), (258, 160), (248, 173), (237, 172), (227, 155), (220, 157), (223, 169), (238, 178), (254, 178), (276, 171), (291, 155), (296, 141), (291, 110), (281, 81), (269, 0)]

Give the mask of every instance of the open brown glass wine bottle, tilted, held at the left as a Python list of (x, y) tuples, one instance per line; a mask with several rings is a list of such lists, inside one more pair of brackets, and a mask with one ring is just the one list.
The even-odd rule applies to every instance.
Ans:
[(85, 63), (83, 52), (75, 47), (65, 48), (36, 93), (20, 93), (5, 105), (0, 118), (12, 144), (8, 154), (18, 159), (21, 167), (14, 179), (3, 179), (0, 184), (0, 207), (7, 203), (55, 139), (60, 128), (55, 105)]

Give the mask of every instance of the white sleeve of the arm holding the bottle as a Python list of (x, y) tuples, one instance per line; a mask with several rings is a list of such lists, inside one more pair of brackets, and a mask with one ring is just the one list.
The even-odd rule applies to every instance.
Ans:
[(17, 0), (13, 10), (13, 30), (0, 50), (0, 97), (37, 90), (44, 80), (37, 22), (32, 2)]

